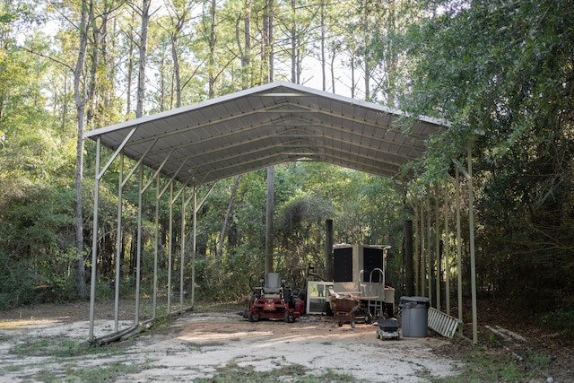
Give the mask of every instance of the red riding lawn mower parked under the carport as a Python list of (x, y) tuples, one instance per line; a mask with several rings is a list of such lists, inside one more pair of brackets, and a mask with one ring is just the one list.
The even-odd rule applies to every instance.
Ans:
[(285, 287), (285, 281), (278, 273), (265, 275), (265, 283), (253, 289), (249, 300), (249, 309), (244, 317), (249, 322), (259, 319), (283, 319), (292, 323), (305, 313), (305, 302), (290, 287)]

